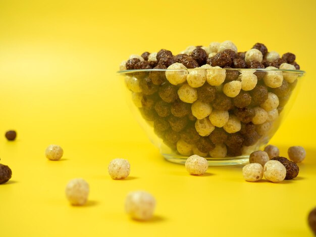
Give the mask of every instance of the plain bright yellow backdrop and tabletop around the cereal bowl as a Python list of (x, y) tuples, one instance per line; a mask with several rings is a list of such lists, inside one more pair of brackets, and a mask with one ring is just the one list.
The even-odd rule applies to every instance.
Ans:
[[(0, 157), (13, 170), (0, 185), (0, 236), (312, 236), (316, 206), (315, 1), (1, 1)], [(244, 182), (241, 167), (189, 176), (165, 161), (134, 121), (116, 76), (132, 53), (230, 39), (294, 52), (307, 72), (293, 109), (271, 143), (302, 145), (293, 181)], [(59, 144), (61, 161), (44, 150)], [(109, 161), (124, 157), (131, 176), (113, 181)], [(74, 177), (90, 184), (84, 207), (67, 203)], [(152, 221), (124, 213), (129, 191), (156, 200)]]

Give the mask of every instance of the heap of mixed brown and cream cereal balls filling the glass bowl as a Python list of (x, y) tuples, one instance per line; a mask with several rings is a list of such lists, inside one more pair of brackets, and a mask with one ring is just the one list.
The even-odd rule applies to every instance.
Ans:
[(296, 86), (297, 73), (262, 69), (299, 65), (293, 53), (280, 56), (262, 43), (238, 52), (228, 40), (177, 55), (131, 55), (120, 66), (132, 70), (125, 72), (132, 100), (166, 145), (181, 155), (218, 158), (249, 154), (249, 146), (269, 137)]

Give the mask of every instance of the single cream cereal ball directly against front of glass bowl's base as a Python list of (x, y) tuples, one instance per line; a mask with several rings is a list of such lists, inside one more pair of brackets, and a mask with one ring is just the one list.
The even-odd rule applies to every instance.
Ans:
[(191, 155), (185, 161), (185, 168), (192, 175), (202, 175), (208, 168), (208, 162), (204, 157)]

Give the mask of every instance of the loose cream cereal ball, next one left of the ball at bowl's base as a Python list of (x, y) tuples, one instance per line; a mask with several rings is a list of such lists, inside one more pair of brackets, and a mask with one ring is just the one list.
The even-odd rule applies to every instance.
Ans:
[(131, 167), (128, 160), (116, 158), (111, 160), (108, 170), (113, 180), (121, 180), (129, 175)]

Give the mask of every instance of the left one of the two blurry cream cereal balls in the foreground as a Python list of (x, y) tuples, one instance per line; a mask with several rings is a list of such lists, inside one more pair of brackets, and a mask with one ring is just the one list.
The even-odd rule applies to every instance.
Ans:
[(74, 206), (82, 206), (88, 200), (89, 184), (83, 179), (73, 179), (66, 186), (66, 197)]

